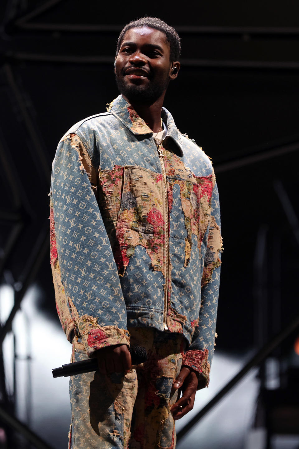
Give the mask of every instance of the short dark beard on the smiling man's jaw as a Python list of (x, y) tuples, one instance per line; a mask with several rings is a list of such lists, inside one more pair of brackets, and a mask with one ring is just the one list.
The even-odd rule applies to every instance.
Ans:
[(147, 104), (148, 106), (155, 103), (161, 97), (169, 84), (168, 76), (165, 79), (159, 80), (155, 80), (149, 76), (149, 83), (147, 85), (129, 84), (122, 74), (116, 74), (115, 79), (119, 92), (128, 98), (130, 103)]

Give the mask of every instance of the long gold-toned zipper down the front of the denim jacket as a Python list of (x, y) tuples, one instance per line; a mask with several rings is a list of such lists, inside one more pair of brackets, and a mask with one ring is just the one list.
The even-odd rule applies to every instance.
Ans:
[(163, 149), (161, 151), (161, 148), (159, 149), (159, 159), (161, 163), (161, 169), (162, 169), (162, 178), (163, 178), (163, 185), (164, 185), (164, 192), (163, 192), (163, 215), (165, 217), (165, 289), (164, 289), (164, 310), (163, 310), (163, 326), (165, 330), (168, 330), (167, 326), (167, 294), (168, 294), (168, 278), (169, 278), (169, 235), (168, 235), (168, 198), (167, 198), (167, 184), (166, 184), (166, 170), (165, 170), (165, 163), (164, 163), (164, 153)]

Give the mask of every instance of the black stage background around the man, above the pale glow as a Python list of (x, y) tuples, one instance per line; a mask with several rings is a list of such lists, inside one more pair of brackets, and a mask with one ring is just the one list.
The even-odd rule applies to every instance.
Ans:
[(145, 5), (1, 2), (2, 282), (22, 296), (35, 279), (40, 309), (58, 321), (47, 196), (56, 145), (118, 95), (113, 60), (122, 27), (157, 16), (182, 39), (182, 68), (165, 107), (212, 158), (220, 192), (217, 348), (246, 352), (298, 314), (299, 4)]

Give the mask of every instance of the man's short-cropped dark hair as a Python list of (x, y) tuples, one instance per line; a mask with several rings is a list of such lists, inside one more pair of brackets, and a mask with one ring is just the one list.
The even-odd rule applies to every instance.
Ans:
[(156, 30), (162, 31), (165, 34), (166, 39), (170, 44), (170, 61), (178, 61), (178, 58), (181, 53), (181, 40), (179, 38), (178, 33), (172, 26), (167, 25), (163, 20), (158, 19), (156, 17), (142, 17), (137, 20), (133, 20), (128, 23), (121, 31), (121, 34), (117, 40), (117, 48), (116, 54), (119, 52), (121, 47), (121, 43), (124, 39), (124, 36), (128, 30), (131, 28), (142, 28), (143, 26), (147, 26), (147, 28), (154, 28)]

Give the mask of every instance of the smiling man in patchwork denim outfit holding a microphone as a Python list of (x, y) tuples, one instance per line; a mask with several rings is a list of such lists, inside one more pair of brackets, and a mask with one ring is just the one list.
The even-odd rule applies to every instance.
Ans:
[[(57, 148), (50, 193), (57, 310), (72, 361), (99, 364), (70, 380), (73, 449), (174, 448), (174, 420), (208, 385), (219, 201), (210, 160), (162, 108), (179, 53), (165, 22), (130, 22), (117, 42), (121, 95)], [(135, 344), (148, 360), (131, 367)]]

